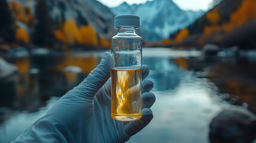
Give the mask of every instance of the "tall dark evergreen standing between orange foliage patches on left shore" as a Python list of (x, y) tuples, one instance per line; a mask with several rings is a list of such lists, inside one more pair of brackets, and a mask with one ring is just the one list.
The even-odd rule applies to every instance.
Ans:
[(51, 46), (53, 44), (53, 25), (48, 14), (46, 0), (38, 0), (35, 14), (34, 43), (38, 46)]

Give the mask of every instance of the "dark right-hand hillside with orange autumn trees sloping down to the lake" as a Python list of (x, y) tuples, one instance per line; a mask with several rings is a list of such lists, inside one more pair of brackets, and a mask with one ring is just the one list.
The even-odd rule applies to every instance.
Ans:
[[(171, 34), (174, 46), (198, 46), (215, 43), (221, 47), (256, 48), (256, 1), (223, 0), (187, 29)], [(186, 35), (182, 36), (184, 31)], [(180, 41), (175, 41), (181, 35)]]

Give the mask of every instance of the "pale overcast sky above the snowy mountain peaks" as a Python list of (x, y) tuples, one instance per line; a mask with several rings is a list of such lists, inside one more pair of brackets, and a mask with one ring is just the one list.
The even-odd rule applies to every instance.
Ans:
[[(116, 7), (126, 1), (129, 5), (145, 3), (147, 0), (97, 0), (108, 7)], [(150, 0), (152, 1), (152, 0)], [(212, 0), (172, 0), (183, 10), (208, 10)]]

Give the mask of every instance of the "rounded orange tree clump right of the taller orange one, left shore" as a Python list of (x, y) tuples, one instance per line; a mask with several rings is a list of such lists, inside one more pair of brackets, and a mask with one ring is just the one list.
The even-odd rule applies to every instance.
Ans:
[(90, 24), (87, 26), (81, 26), (78, 35), (76, 35), (76, 41), (78, 43), (84, 43), (85, 45), (97, 46), (97, 33)]

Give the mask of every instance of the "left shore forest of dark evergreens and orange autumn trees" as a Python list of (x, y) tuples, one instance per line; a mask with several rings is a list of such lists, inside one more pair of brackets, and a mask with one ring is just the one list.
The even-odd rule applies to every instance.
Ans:
[[(19, 46), (42, 48), (109, 48), (110, 39), (99, 36), (87, 23), (78, 27), (73, 18), (56, 23), (51, 20), (46, 1), (39, 0), (35, 6), (35, 15), (30, 7), (19, 2), (0, 1), (0, 38), (3, 45), (13, 48)], [(5, 46), (1, 46), (4, 49)]]

